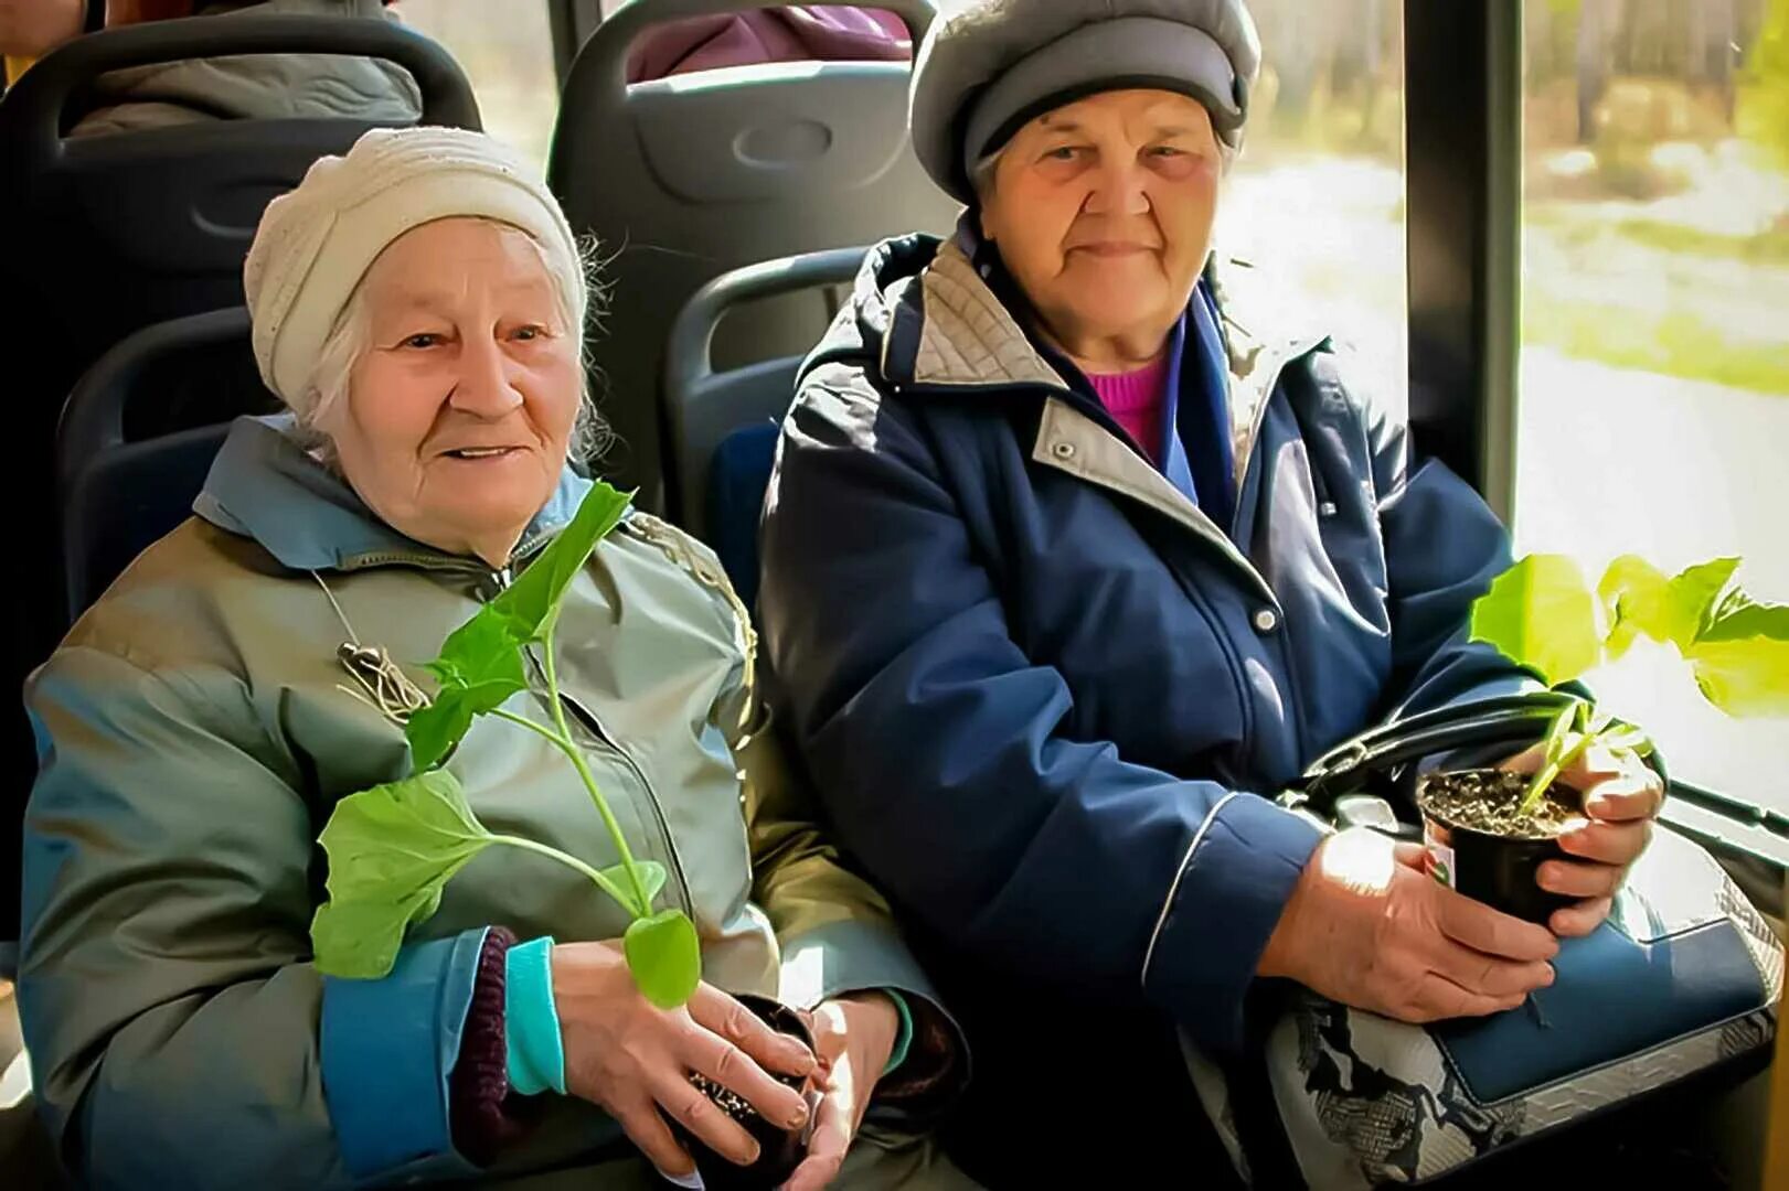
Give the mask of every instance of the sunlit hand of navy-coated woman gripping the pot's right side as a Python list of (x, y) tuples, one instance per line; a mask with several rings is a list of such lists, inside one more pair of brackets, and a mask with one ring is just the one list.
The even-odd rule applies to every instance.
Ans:
[[(1540, 746), (1503, 764), (1515, 773), (1533, 773), (1540, 765)], [(1666, 801), (1666, 783), (1639, 756), (1626, 749), (1589, 748), (1560, 778), (1583, 792), (1585, 819), (1567, 828), (1560, 848), (1576, 860), (1547, 860), (1537, 880), (1547, 892), (1581, 898), (1578, 905), (1555, 910), (1553, 933), (1587, 935), (1608, 917), (1615, 891), (1628, 869), (1653, 839), (1653, 819)]]

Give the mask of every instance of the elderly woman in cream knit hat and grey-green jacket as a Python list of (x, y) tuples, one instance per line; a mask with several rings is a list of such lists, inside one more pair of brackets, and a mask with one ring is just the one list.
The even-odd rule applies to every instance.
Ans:
[[(841, 1168), (844, 1186), (959, 1180), (918, 1132), (964, 1073), (955, 1028), (884, 901), (803, 821), (751, 714), (751, 629), (719, 565), (644, 513), (572, 579), (546, 665), (633, 855), (694, 919), (707, 984), (655, 1009), (619, 910), (517, 849), (472, 860), (390, 976), (318, 975), (313, 840), (338, 799), (411, 769), (401, 726), (352, 696), (356, 665), (435, 656), (589, 490), (567, 465), (598, 429), (589, 286), (528, 168), (444, 129), (318, 161), (268, 207), (245, 283), (261, 374), (292, 413), (234, 426), (197, 517), (29, 688), (45, 762), (20, 1003), (73, 1173), (687, 1182), (667, 1116), (733, 1162), (759, 1150), (701, 1075), (812, 1132), (789, 1186)], [(542, 694), (535, 678), (510, 708)], [(617, 860), (551, 744), (474, 728), (447, 767), (492, 830)], [(812, 1010), (818, 1053), (735, 992)], [(886, 1132), (852, 1146), (859, 1123)]]

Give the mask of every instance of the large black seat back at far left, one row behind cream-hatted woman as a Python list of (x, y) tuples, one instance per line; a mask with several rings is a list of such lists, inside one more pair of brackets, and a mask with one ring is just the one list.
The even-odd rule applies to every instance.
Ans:
[[(68, 136), (88, 84), (114, 70), (233, 54), (349, 54), (415, 79), (422, 122), (479, 127), (472, 88), (437, 43), (367, 18), (197, 16), (75, 38), (0, 98), (0, 325), (13, 336), (7, 393), (21, 424), (23, 483), (55, 490), (55, 418), (113, 343), (168, 318), (242, 304), (242, 261), (267, 202), (365, 120), (215, 120), (116, 136)], [(254, 390), (259, 393), (259, 388)], [(150, 411), (154, 413), (154, 411)], [(45, 501), (48, 503), (48, 501)], [(23, 520), (21, 556), (61, 572), (54, 510)], [(66, 628), (57, 581), (18, 601), (0, 681), (18, 690)], [(36, 749), (23, 706), (0, 717), (0, 805), (23, 805)], [(18, 923), (16, 817), (0, 812), (0, 923)], [(11, 935), (11, 928), (0, 928)]]

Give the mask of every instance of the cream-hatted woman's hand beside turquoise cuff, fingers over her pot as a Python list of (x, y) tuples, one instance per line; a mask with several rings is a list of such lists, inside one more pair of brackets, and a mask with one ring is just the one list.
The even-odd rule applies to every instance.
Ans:
[(601, 1105), (666, 1175), (691, 1175), (696, 1164), (660, 1109), (732, 1162), (759, 1157), (757, 1141), (689, 1082), (692, 1071), (739, 1093), (769, 1121), (807, 1123), (801, 1094), (766, 1071), (807, 1077), (814, 1055), (716, 987), (698, 985), (683, 1009), (657, 1009), (635, 987), (619, 944), (562, 942), (553, 948), (553, 1000), (565, 1089)]

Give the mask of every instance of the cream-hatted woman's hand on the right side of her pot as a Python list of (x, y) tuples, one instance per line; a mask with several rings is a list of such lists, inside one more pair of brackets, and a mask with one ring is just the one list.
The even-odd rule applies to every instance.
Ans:
[(839, 1177), (869, 1093), (900, 1037), (900, 1010), (886, 992), (852, 992), (821, 1003), (809, 1025), (828, 1069), (807, 1159), (784, 1184), (785, 1191), (819, 1191)]

